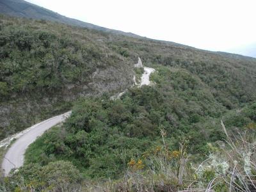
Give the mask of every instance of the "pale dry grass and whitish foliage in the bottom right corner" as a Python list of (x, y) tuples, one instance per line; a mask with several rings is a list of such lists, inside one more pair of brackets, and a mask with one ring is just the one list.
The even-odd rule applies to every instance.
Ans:
[(246, 127), (238, 136), (229, 136), (221, 124), (227, 141), (198, 166), (196, 186), (208, 186), (215, 191), (253, 191), (256, 189), (255, 129)]

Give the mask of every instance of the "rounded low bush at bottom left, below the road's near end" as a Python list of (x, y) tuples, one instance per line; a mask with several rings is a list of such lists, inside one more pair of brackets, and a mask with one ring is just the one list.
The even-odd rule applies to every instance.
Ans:
[(6, 191), (79, 191), (81, 175), (71, 163), (28, 164), (6, 177)]

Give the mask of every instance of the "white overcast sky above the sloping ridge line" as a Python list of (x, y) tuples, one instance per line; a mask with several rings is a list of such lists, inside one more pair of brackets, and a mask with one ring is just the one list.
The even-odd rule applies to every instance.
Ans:
[(256, 56), (252, 51), (256, 51), (255, 0), (26, 1), (106, 28), (200, 49)]

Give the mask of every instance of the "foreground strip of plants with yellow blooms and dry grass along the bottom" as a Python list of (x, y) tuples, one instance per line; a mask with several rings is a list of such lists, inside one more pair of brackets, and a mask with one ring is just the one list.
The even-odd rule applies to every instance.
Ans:
[(255, 128), (252, 123), (224, 141), (208, 143), (209, 155), (194, 161), (188, 142), (170, 148), (168, 134), (161, 142), (127, 162), (119, 179), (88, 180), (68, 161), (45, 166), (30, 163), (2, 181), (3, 191), (253, 191), (255, 185)]

